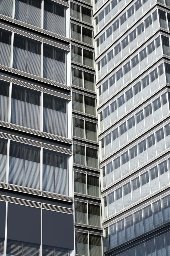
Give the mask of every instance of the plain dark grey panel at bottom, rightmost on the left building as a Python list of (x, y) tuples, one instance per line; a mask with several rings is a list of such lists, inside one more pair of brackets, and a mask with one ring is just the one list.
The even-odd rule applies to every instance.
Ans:
[(74, 249), (72, 214), (43, 209), (43, 245)]

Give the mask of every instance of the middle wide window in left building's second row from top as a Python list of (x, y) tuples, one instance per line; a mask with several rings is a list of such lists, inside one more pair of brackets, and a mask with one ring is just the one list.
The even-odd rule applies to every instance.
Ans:
[(40, 76), (41, 43), (14, 34), (13, 68)]

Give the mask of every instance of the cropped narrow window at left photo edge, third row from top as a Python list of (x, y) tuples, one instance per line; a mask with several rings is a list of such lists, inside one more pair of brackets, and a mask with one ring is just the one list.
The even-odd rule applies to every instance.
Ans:
[(7, 122), (8, 121), (8, 103), (9, 103), (9, 83), (2, 80), (0, 80), (0, 102), (1, 102), (0, 120)]

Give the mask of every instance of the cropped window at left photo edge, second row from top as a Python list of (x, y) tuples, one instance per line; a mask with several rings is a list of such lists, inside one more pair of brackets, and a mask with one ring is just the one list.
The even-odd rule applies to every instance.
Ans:
[[(10, 0), (8, 0), (10, 1)], [(2, 0), (0, 5), (2, 5)], [(4, 3), (7, 5), (7, 2)], [(9, 6), (7, 6), (7, 9)], [(10, 66), (10, 59), (11, 59), (11, 32), (7, 30), (0, 30), (0, 64), (5, 66)]]

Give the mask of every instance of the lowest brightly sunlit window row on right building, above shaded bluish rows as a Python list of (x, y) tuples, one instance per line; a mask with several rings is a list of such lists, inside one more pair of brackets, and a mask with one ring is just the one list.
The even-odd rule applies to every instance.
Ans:
[[(149, 169), (149, 171), (125, 183), (123, 186), (102, 198), (103, 219), (118, 213), (124, 208), (168, 185), (170, 175), (169, 164), (170, 159), (161, 162), (155, 167)], [(113, 171), (110, 174), (113, 175)]]

